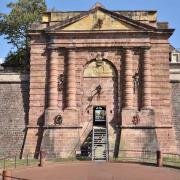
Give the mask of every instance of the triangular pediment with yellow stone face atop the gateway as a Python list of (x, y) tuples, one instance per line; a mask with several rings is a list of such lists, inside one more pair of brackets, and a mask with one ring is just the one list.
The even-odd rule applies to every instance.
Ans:
[(123, 15), (96, 7), (47, 28), (47, 31), (92, 31), (92, 30), (154, 30), (154, 27), (132, 20)]

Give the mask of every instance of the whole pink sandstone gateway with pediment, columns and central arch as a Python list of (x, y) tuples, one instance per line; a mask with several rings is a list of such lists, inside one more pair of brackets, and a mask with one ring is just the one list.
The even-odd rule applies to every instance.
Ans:
[(46, 12), (31, 37), (23, 154), (92, 159), (177, 152), (169, 37), (156, 11)]

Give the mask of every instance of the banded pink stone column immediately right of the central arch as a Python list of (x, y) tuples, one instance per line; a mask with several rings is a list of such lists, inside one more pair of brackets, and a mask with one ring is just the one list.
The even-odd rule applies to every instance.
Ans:
[(125, 49), (124, 109), (133, 109), (133, 50)]

